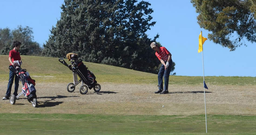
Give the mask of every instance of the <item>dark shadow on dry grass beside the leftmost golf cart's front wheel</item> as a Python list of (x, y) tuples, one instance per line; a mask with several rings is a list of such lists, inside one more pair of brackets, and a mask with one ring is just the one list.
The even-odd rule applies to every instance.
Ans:
[(53, 107), (57, 106), (63, 102), (49, 102), (55, 99), (62, 99), (62, 98), (67, 98), (67, 97), (79, 97), (79, 96), (62, 96), (62, 95), (57, 95), (57, 96), (49, 96), (49, 97), (37, 97), (37, 99), (45, 99), (48, 98), (50, 100), (45, 100), (44, 102), (38, 101), (38, 107)]

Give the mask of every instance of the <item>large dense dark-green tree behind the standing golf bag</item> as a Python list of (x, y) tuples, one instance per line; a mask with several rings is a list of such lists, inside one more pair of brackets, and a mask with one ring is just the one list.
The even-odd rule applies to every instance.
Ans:
[(159, 60), (146, 31), (156, 22), (146, 1), (65, 0), (43, 54), (63, 57), (78, 53), (82, 60), (143, 72), (158, 72)]

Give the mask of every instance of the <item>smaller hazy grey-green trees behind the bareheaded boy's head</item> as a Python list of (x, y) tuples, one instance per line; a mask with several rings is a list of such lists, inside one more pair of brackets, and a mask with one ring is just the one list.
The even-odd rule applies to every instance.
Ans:
[(34, 42), (32, 28), (26, 26), (18, 26), (17, 29), (0, 28), (0, 54), (9, 55), (9, 51), (13, 49), (12, 42), (18, 40), (21, 42), (19, 50), (21, 55), (40, 55), (42, 48), (39, 43)]

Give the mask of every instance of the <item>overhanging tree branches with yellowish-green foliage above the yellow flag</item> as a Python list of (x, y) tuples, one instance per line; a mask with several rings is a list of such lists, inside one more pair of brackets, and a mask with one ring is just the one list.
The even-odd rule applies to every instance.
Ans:
[(201, 28), (211, 31), (208, 39), (230, 51), (256, 42), (256, 0), (191, 0)]

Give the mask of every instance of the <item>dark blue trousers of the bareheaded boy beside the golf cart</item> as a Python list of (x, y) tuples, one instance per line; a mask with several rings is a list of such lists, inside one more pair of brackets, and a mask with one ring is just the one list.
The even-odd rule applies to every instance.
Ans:
[[(11, 68), (14, 68), (14, 67), (11, 67)], [(19, 88), (19, 78), (18, 76), (16, 75), (15, 72), (13, 72), (12, 70), (10, 70), (10, 73), (9, 73), (9, 82), (8, 82), (8, 86), (7, 86), (7, 91), (6, 91), (6, 94), (7, 96), (10, 96), (11, 95), (11, 90), (12, 90), (12, 84), (13, 84), (13, 80), (14, 80), (14, 77), (15, 77), (15, 85), (14, 85), (14, 95), (17, 96), (18, 95), (18, 88)]]

